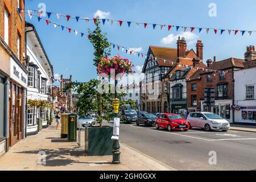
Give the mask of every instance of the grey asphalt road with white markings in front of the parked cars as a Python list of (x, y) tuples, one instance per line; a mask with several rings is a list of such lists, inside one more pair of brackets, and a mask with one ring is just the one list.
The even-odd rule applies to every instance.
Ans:
[(119, 141), (178, 171), (256, 169), (256, 133), (253, 132), (206, 132), (195, 128), (169, 132), (121, 123)]

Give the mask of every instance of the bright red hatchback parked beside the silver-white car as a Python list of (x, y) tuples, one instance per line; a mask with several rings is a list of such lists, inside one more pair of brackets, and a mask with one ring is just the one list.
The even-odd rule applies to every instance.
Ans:
[(160, 114), (155, 122), (155, 128), (158, 130), (160, 127), (168, 131), (188, 131), (189, 123), (180, 117), (178, 114)]

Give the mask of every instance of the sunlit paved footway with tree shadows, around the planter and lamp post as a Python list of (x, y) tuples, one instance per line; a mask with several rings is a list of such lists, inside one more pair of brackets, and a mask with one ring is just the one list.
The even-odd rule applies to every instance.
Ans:
[[(142, 152), (120, 144), (121, 164), (112, 164), (112, 156), (86, 156), (84, 132), (81, 146), (60, 139), (56, 122), (39, 134), (29, 136), (0, 157), (0, 171), (170, 171), (173, 168)], [(45, 163), (44, 163), (45, 162)]]

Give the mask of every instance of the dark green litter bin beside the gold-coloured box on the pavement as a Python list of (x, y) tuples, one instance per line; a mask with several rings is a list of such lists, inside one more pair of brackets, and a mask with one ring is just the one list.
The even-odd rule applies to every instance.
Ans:
[(77, 134), (77, 115), (68, 115), (68, 142), (76, 142)]

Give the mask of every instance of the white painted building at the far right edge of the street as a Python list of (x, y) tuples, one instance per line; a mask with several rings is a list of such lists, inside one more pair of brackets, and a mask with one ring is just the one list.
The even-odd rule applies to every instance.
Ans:
[(236, 123), (256, 124), (256, 60), (246, 61), (245, 69), (234, 71), (234, 111)]

